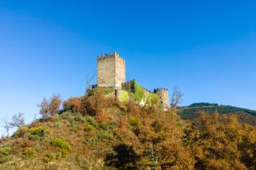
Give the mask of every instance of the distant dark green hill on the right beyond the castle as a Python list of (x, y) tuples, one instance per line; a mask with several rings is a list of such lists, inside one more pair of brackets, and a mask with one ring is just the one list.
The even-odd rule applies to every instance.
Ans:
[(256, 125), (256, 111), (250, 109), (243, 109), (231, 105), (218, 105), (211, 103), (194, 103), (192, 105), (181, 107), (178, 109), (178, 115), (184, 120), (194, 120), (198, 118), (198, 113), (205, 112), (212, 114), (218, 112), (220, 114), (235, 114), (238, 120)]

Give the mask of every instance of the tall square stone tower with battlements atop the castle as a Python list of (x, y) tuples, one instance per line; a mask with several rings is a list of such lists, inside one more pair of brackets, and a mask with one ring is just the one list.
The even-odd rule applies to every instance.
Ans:
[(118, 53), (98, 57), (97, 85), (102, 88), (122, 89), (126, 82), (126, 61)]

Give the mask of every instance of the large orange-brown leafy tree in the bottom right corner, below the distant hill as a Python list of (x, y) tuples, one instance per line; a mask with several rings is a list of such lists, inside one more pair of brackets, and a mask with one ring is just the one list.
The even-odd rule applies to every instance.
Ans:
[(253, 126), (241, 125), (234, 115), (200, 113), (198, 122), (185, 129), (183, 142), (195, 157), (196, 169), (255, 169), (255, 134)]

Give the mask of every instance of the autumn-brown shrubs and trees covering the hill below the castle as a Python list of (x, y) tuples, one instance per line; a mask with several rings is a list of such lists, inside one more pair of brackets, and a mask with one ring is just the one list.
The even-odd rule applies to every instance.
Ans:
[(0, 140), (1, 169), (255, 169), (256, 128), (201, 113), (115, 101), (102, 89), (44, 100), (42, 119)]

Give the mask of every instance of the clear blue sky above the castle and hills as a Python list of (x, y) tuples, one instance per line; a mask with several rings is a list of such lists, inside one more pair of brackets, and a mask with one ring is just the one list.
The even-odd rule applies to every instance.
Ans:
[(182, 105), (256, 109), (256, 2), (0, 0), (0, 116), (84, 93), (96, 56), (118, 52), (128, 79), (177, 85)]

